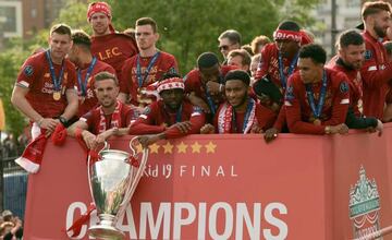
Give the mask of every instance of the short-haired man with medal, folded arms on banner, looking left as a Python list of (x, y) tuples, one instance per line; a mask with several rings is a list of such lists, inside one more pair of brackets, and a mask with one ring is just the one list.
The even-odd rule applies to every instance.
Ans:
[(298, 69), (289, 79), (285, 115), (290, 132), (303, 134), (346, 133), (348, 80), (342, 72), (326, 69), (326, 50), (305, 45), (299, 50)]

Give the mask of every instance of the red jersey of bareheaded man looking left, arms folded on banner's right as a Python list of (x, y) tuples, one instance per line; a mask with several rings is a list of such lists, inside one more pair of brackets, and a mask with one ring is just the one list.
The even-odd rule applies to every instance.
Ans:
[[(324, 69), (327, 91), (321, 115), (316, 118), (308, 101), (306, 87), (299, 72), (290, 76), (284, 98), (285, 115), (290, 132), (324, 134), (326, 125), (336, 125), (345, 122), (350, 104), (350, 87), (347, 76), (331, 69)], [(315, 106), (320, 99), (321, 81), (311, 84)], [(319, 119), (321, 125), (313, 122)]]

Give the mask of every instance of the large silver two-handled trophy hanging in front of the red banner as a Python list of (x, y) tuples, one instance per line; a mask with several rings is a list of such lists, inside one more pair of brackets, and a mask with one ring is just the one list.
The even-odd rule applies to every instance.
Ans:
[(132, 155), (123, 151), (109, 149), (106, 143), (98, 153), (99, 160), (90, 165), (88, 157), (88, 182), (99, 218), (99, 223), (88, 229), (90, 237), (111, 240), (125, 238), (125, 235), (115, 228), (115, 224), (135, 192), (148, 157), (148, 148), (144, 148), (138, 167), (132, 164), (131, 159), (137, 159), (135, 140), (136, 137), (130, 142)]

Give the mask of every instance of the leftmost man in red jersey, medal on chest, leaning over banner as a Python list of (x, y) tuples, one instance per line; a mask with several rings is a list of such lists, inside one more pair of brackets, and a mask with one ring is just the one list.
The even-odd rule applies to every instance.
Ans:
[(49, 49), (30, 56), (17, 75), (11, 101), (33, 122), (33, 140), (41, 129), (48, 136), (59, 122), (66, 127), (77, 113), (75, 68), (65, 59), (71, 46), (71, 28), (52, 26)]

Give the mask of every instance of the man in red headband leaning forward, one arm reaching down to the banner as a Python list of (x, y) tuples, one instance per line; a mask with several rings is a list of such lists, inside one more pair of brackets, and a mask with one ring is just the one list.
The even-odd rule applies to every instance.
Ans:
[(298, 50), (302, 44), (308, 43), (306, 34), (297, 23), (283, 21), (273, 33), (274, 43), (266, 45), (261, 50), (254, 92), (261, 105), (275, 111), (273, 128), (266, 131), (267, 142), (274, 140), (279, 132), (287, 132), (283, 96), (287, 79), (297, 70)]

